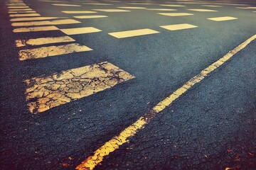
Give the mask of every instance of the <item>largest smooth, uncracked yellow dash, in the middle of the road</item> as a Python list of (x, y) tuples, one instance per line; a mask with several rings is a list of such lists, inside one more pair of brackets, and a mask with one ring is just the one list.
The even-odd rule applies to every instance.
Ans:
[(121, 32), (109, 33), (109, 35), (112, 35), (115, 38), (129, 38), (129, 37), (149, 35), (149, 34), (155, 34), (155, 33), (159, 33), (159, 32), (156, 30), (151, 30), (149, 28), (146, 28), (146, 29), (140, 29), (140, 30), (126, 30)]

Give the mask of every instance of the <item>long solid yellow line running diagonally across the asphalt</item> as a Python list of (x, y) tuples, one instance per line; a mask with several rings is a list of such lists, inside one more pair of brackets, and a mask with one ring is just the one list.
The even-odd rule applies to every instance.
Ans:
[(129, 127), (125, 128), (119, 135), (112, 137), (111, 140), (107, 141), (104, 145), (98, 148), (90, 157), (87, 157), (85, 161), (83, 161), (80, 165), (78, 165), (75, 169), (77, 170), (92, 170), (100, 164), (104, 157), (106, 157), (111, 152), (114, 152), (116, 149), (119, 149), (121, 145), (129, 141), (130, 137), (133, 137), (137, 134), (139, 130), (142, 130), (146, 124), (148, 124), (157, 113), (160, 113), (164, 110), (164, 108), (171, 106), (171, 104), (180, 96), (185, 94), (188, 89), (191, 89), (192, 86), (198, 84), (200, 81), (205, 79), (211, 72), (215, 71), (218, 67), (224, 64), (226, 61), (230, 60), (236, 53), (245, 48), (252, 40), (256, 39), (256, 35), (253, 35), (251, 38), (242, 42), (241, 45), (235, 47), (234, 50), (228, 52), (228, 54), (221, 57), (218, 61), (213, 62), (210, 66), (203, 69), (199, 74), (195, 77), (192, 77), (190, 80), (186, 82), (179, 89), (174, 91), (173, 94), (164, 98), (164, 100), (160, 101), (154, 108), (150, 111), (146, 112), (142, 117), (140, 117), (135, 123), (129, 125)]

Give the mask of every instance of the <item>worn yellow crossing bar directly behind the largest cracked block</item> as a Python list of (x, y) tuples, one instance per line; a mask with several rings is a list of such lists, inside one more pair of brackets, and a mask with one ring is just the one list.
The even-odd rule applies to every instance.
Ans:
[(79, 45), (77, 43), (68, 45), (58, 45), (50, 47), (38, 47), (34, 49), (20, 50), (18, 52), (19, 60), (31, 60), (43, 57), (52, 57), (55, 55), (67, 55), (74, 52), (91, 51), (90, 47)]

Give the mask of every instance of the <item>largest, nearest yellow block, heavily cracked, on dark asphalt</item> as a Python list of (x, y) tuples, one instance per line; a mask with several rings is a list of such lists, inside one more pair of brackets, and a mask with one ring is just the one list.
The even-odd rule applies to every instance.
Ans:
[(41, 113), (134, 78), (109, 62), (68, 69), (47, 77), (25, 80), (28, 86), (26, 101), (31, 113)]

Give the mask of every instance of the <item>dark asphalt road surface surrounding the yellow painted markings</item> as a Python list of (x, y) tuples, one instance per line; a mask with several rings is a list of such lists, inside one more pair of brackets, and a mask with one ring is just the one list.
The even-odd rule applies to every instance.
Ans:
[[(119, 135), (144, 113), (151, 111), (157, 103), (174, 93), (201, 70), (256, 34), (255, 1), (85, 1), (92, 4), (82, 4), (82, 1), (75, 0), (10, 1), (1, 1), (0, 4), (0, 167), (6, 170), (75, 169), (93, 155), (95, 150)], [(41, 16), (9, 16), (31, 14), (9, 13), (21, 9), (10, 10), (16, 7), (6, 6), (15, 3), (24, 3)], [(130, 6), (143, 8), (118, 8)], [(177, 11), (148, 10), (149, 8), (170, 8)], [(106, 12), (95, 9), (127, 11)], [(62, 11), (97, 13), (74, 14)], [(165, 16), (158, 13), (193, 15)], [(107, 17), (74, 17), (92, 15)], [(235, 19), (208, 19), (224, 16)], [(73, 19), (80, 23), (42, 23), (42, 26), (56, 26), (58, 30), (13, 31), (33, 26), (26, 26), (31, 21), (10, 21), (11, 19), (30, 17), (65, 17), (42, 21)], [(15, 26), (15, 23), (25, 25)], [(181, 30), (160, 27), (184, 23), (196, 27)], [(68, 35), (73, 42), (46, 44), (40, 39), (38, 45), (29, 45), (27, 41), (63, 37), (67, 34), (62, 29), (85, 27), (101, 31)], [(117, 38), (109, 34), (146, 28), (159, 33), (129, 38)], [(16, 40), (22, 40), (23, 47), (16, 47)], [(64, 52), (59, 50), (60, 53), (57, 52), (56, 55), (46, 52), (47, 50), (40, 53), (39, 48), (70, 43), (85, 45), (92, 50), (68, 52), (70, 49), (67, 48)], [(34, 48), (38, 48), (34, 53), (26, 51)], [(21, 54), (22, 50), (25, 52)], [(102, 62), (114, 64), (122, 70), (110, 73), (108, 67), (103, 68), (99, 64)], [(111, 74), (114, 79), (112, 84), (97, 87), (95, 83), (90, 89), (85, 83), (85, 91), (92, 91), (90, 95), (82, 96), (81, 91), (78, 91), (80, 96), (70, 97), (71, 101), (68, 98), (61, 103), (57, 99), (58, 102), (47, 106), (50, 108), (43, 109), (40, 109), (42, 103), (38, 101), (41, 89), (35, 92), (36, 97), (28, 94), (31, 84), (36, 84), (39, 78), (45, 80), (55, 73), (58, 73), (57, 77), (61, 77), (65, 70), (74, 71), (80, 67), (85, 69), (85, 66), (94, 64), (100, 70), (105, 70), (107, 75), (95, 80), (101, 74), (99, 70), (92, 69), (88, 71), (92, 77), (90, 82), (97, 81), (100, 84), (102, 79), (107, 79)], [(111, 67), (113, 68), (112, 65)], [(122, 77), (120, 72), (128, 76)], [(107, 154), (95, 169), (256, 169), (255, 75), (256, 40), (252, 40), (230, 60), (210, 72), (208, 77), (179, 96), (171, 106), (156, 114), (144, 128), (129, 137), (129, 141), (120, 145), (119, 149)], [(79, 77), (75, 78), (80, 81)], [(67, 86), (73, 84), (75, 78), (70, 79)], [(26, 84), (25, 80), (31, 82)], [(71, 89), (75, 91), (75, 85), (72, 86)], [(69, 95), (65, 89), (58, 91)], [(37, 104), (34, 109), (33, 103)], [(29, 104), (32, 106), (28, 106)]]

